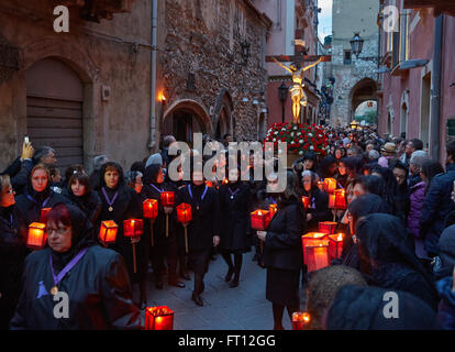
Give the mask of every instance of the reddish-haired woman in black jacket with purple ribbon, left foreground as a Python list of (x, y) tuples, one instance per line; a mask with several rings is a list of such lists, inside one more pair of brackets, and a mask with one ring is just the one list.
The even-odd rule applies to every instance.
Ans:
[(48, 248), (26, 257), (11, 329), (140, 329), (123, 258), (97, 245), (85, 215), (77, 207), (56, 205), (48, 213), (47, 234)]

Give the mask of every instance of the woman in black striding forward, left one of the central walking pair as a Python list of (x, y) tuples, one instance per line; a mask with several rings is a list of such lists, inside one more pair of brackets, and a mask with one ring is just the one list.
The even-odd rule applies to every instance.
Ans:
[(203, 306), (200, 294), (204, 289), (203, 276), (208, 272), (213, 246), (220, 243), (220, 200), (217, 191), (203, 182), (201, 170), (193, 170), (191, 184), (179, 191), (179, 202), (191, 206), (192, 220), (187, 224), (188, 262), (195, 273), (191, 299)]

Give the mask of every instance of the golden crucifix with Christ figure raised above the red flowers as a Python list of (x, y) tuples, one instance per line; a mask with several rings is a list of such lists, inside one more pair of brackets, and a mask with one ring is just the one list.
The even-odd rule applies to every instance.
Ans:
[[(318, 56), (318, 55), (307, 55), (304, 42), (301, 40), (296, 40), (296, 55), (293, 56), (267, 56), (266, 62), (275, 62), (280, 67), (285, 68), (292, 75), (292, 85), (289, 87), (290, 97), (292, 100), (292, 122), (299, 123), (300, 117), (300, 106), (307, 106), (307, 95), (304, 94), (303, 87), (303, 74), (306, 70), (314, 67), (321, 62), (330, 62), (331, 56)], [(281, 63), (291, 63), (288, 66)], [(312, 63), (308, 66), (304, 66), (303, 63)]]

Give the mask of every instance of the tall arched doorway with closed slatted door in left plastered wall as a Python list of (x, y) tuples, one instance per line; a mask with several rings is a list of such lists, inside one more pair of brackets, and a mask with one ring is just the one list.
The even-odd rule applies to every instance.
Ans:
[(73, 68), (47, 57), (25, 72), (26, 127), (33, 146), (56, 151), (60, 170), (84, 164), (84, 84)]

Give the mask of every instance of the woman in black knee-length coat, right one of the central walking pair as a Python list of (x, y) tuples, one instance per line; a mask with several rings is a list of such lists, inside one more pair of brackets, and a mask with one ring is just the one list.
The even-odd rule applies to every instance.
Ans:
[[(251, 251), (252, 239), (249, 212), (252, 211), (252, 195), (247, 185), (240, 180), (241, 170), (233, 168), (229, 172), (229, 184), (220, 186), (220, 253), (228, 264), (224, 277), (229, 287), (237, 287), (242, 270), (243, 253)], [(234, 264), (232, 256), (234, 255)], [(232, 278), (232, 276), (234, 277)], [(232, 279), (232, 280), (231, 280)]]

